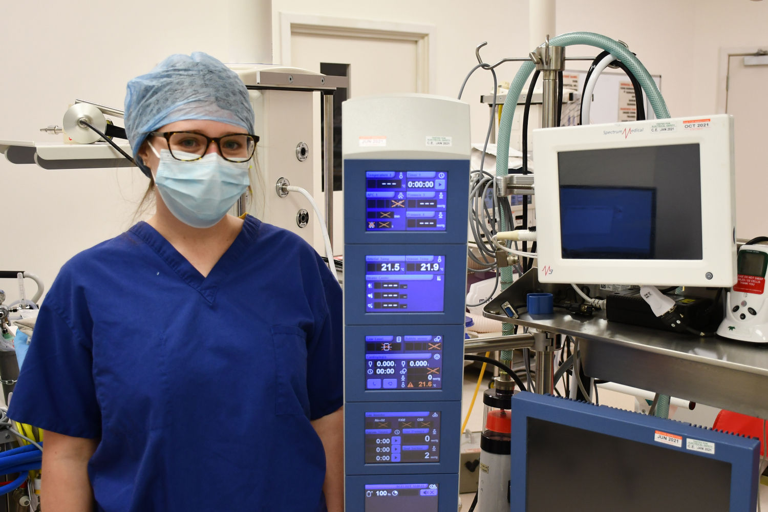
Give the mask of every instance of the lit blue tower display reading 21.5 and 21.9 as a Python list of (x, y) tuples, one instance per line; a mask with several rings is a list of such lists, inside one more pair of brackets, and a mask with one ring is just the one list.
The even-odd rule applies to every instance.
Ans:
[(366, 256), (366, 312), (442, 312), (445, 256)]

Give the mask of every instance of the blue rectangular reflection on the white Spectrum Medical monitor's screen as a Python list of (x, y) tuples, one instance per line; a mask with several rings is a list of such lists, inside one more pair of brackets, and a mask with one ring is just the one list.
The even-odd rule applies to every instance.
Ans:
[(562, 257), (655, 257), (656, 189), (560, 187)]

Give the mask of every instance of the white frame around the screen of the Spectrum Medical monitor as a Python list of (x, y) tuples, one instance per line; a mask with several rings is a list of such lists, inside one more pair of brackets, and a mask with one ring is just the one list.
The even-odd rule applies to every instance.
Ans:
[[(558, 152), (673, 144), (700, 147), (702, 259), (563, 259)], [(542, 128), (533, 130), (533, 147), (540, 282), (730, 287), (737, 281), (733, 116)]]

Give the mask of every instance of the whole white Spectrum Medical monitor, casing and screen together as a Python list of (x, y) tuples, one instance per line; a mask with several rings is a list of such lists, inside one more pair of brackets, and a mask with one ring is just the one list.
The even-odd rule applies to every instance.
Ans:
[(534, 130), (540, 282), (736, 282), (733, 117)]

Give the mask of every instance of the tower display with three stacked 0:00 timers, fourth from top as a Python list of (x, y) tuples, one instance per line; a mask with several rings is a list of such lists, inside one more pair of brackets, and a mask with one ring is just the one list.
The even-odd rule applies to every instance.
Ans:
[(366, 412), (366, 464), (439, 461), (438, 411)]

